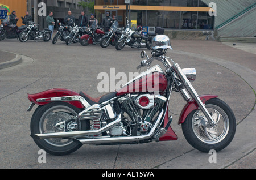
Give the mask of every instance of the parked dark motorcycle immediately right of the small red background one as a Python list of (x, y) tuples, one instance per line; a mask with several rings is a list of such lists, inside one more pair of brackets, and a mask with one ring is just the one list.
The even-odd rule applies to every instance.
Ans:
[(115, 46), (119, 38), (121, 38), (122, 29), (118, 28), (118, 26), (119, 26), (118, 21), (115, 20), (115, 22), (110, 27), (110, 31), (108, 32), (108, 35), (101, 38), (100, 45), (102, 48), (108, 47), (109, 44)]

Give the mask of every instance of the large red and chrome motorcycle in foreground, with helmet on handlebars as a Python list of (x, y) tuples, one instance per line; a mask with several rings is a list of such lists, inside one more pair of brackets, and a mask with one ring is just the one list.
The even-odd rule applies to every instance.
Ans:
[[(215, 95), (197, 95), (190, 81), (195, 68), (181, 69), (166, 57), (170, 39), (158, 35), (152, 40), (152, 57), (143, 51), (137, 69), (147, 70), (121, 89), (92, 98), (84, 92), (50, 89), (28, 94), (32, 109), (31, 136), (52, 155), (67, 155), (82, 144), (135, 144), (177, 140), (171, 128), (168, 104), (173, 91), (187, 101), (179, 124), (187, 141), (196, 149), (220, 151), (233, 139), (236, 119), (229, 106)], [(163, 63), (150, 68), (152, 61)]]

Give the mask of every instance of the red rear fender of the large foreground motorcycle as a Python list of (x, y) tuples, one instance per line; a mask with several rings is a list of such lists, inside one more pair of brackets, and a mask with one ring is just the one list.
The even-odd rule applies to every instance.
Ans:
[[(63, 88), (55, 88), (55, 89), (49, 89), (43, 92), (39, 92), (36, 94), (27, 94), (28, 100), (31, 102), (34, 102), (36, 105), (45, 105), (52, 101), (46, 101), (46, 102), (38, 102), (37, 99), (40, 98), (51, 98), (51, 97), (64, 97), (64, 96), (81, 96), (79, 93), (72, 91), (70, 89), (63, 89)], [(84, 108), (84, 105), (80, 101), (64, 101), (68, 102), (69, 104), (72, 104), (73, 106), (76, 106), (77, 108)]]

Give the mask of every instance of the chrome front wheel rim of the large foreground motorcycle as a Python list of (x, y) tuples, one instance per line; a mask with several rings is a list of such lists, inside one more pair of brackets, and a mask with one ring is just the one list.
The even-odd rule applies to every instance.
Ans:
[(192, 117), (192, 129), (196, 137), (203, 143), (220, 143), (229, 132), (229, 118), (225, 111), (219, 106), (205, 105), (212, 118), (217, 123), (212, 127), (209, 125), (201, 110), (196, 110)]

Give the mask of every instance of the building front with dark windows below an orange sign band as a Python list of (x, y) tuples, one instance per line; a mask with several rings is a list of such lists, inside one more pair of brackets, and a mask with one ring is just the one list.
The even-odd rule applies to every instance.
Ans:
[[(95, 0), (94, 10), (98, 19), (110, 12), (119, 24), (126, 22), (125, 0)], [(213, 29), (214, 16), (210, 7), (201, 0), (131, 0), (128, 19), (137, 25), (170, 29)]]

